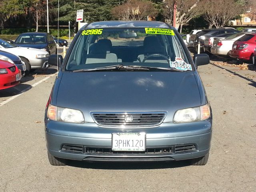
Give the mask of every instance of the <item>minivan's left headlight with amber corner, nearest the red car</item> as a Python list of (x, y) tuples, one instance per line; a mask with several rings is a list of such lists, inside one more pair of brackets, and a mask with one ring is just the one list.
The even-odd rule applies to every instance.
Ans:
[(80, 110), (62, 108), (49, 104), (47, 116), (54, 121), (64, 121), (70, 123), (84, 123), (84, 115)]

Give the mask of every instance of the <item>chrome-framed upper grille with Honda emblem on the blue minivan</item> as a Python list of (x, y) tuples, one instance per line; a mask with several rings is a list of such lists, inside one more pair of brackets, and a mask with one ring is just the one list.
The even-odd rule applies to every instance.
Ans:
[(92, 112), (94, 121), (100, 126), (141, 127), (157, 126), (162, 123), (166, 112), (128, 112), (128, 113), (100, 113)]

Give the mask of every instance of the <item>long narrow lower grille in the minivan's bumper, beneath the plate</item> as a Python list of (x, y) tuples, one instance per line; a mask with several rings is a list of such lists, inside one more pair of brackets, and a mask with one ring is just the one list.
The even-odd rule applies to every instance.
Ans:
[(145, 151), (112, 151), (111, 148), (63, 144), (60, 151), (78, 154), (177, 154), (197, 151), (195, 144), (148, 147)]

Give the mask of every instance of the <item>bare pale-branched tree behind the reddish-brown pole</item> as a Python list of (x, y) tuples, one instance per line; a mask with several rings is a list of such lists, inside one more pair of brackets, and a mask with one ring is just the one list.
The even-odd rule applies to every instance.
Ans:
[(163, 2), (165, 6), (164, 14), (169, 22), (172, 22), (174, 3), (176, 2), (176, 27), (180, 26), (180, 32), (182, 32), (184, 24), (201, 14), (200, 0), (163, 0)]

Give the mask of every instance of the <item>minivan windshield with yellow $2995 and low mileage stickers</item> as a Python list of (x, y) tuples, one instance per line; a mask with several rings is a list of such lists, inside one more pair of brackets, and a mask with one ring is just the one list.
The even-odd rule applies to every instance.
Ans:
[(97, 28), (77, 35), (66, 62), (68, 71), (108, 66), (173, 68), (175, 62), (193, 70), (178, 34), (170, 29)]

